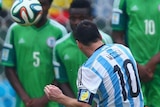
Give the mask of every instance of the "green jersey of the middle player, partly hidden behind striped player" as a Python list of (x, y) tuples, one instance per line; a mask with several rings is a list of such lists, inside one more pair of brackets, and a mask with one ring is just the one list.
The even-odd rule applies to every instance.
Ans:
[[(112, 43), (109, 35), (100, 31), (105, 43)], [(73, 33), (69, 33), (56, 42), (54, 48), (55, 76), (60, 83), (69, 82), (74, 94), (77, 96), (77, 73), (79, 67), (87, 57), (78, 48)]]

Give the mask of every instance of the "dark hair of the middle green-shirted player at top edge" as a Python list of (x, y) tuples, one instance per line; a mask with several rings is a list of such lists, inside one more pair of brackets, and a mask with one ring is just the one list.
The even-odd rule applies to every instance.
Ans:
[(71, 8), (87, 8), (89, 10), (89, 15), (92, 15), (91, 3), (88, 0), (73, 0), (69, 10)]

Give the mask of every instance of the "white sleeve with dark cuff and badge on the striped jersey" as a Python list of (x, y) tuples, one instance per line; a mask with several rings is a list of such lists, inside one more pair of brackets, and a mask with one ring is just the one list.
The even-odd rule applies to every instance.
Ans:
[(95, 72), (81, 67), (78, 71), (77, 81), (78, 101), (91, 105), (101, 82), (101, 78)]

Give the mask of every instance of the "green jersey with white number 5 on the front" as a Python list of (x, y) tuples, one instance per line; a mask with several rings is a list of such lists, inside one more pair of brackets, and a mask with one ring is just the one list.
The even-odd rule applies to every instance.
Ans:
[[(40, 28), (21, 26), (9, 28), (2, 53), (2, 64), (14, 66), (23, 88), (31, 98), (44, 95), (44, 87), (54, 79), (52, 50), (55, 41), (66, 34), (66, 29), (53, 20)], [(20, 107), (22, 101), (18, 101)], [(58, 107), (57, 103), (48, 107)]]

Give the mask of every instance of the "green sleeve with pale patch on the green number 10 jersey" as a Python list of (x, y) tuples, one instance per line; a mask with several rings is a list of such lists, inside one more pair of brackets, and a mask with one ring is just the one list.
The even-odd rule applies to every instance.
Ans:
[(112, 13), (112, 29), (124, 30), (127, 26), (126, 0), (115, 0)]

